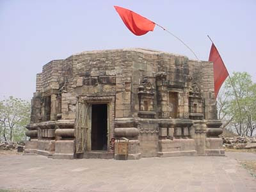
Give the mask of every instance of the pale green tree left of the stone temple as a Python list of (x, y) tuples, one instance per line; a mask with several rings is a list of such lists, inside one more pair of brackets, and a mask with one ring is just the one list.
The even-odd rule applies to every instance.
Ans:
[(29, 124), (30, 104), (26, 100), (9, 97), (0, 101), (0, 138), (20, 141), (26, 138), (25, 126)]

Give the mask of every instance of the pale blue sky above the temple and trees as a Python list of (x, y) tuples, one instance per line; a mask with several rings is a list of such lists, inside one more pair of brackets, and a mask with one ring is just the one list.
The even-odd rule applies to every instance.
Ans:
[(141, 47), (195, 56), (156, 26), (133, 35), (114, 5), (129, 8), (182, 38), (208, 60), (210, 35), (230, 74), (256, 82), (256, 1), (14, 1), (0, 0), (0, 99), (31, 99), (36, 73), (51, 60), (82, 51)]

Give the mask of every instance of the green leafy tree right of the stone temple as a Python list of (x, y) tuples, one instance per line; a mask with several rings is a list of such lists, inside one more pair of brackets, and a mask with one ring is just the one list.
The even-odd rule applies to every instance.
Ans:
[(253, 136), (256, 132), (256, 83), (246, 72), (234, 72), (230, 79), (218, 95), (218, 116), (224, 128), (240, 136)]

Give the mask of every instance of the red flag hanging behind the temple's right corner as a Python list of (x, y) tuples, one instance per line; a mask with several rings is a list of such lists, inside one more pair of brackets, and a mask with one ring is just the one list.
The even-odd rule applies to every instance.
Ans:
[(218, 95), (221, 85), (225, 81), (228, 76), (227, 68), (225, 67), (224, 62), (221, 59), (221, 56), (212, 43), (211, 52), (209, 55), (209, 61), (213, 62), (213, 72), (214, 72), (214, 93), (215, 99)]

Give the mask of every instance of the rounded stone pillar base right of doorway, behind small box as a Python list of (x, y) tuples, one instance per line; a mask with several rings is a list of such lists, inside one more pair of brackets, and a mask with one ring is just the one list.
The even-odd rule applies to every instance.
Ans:
[[(128, 156), (127, 159), (140, 159), (141, 153), (139, 152), (140, 141), (138, 140), (139, 129), (138, 122), (133, 118), (118, 118), (115, 119), (115, 139), (120, 138), (128, 139)], [(115, 141), (115, 148), (117, 147)], [(115, 159), (117, 158), (115, 150)]]

